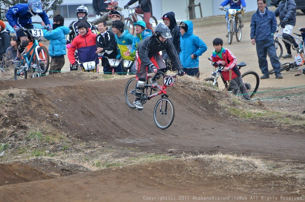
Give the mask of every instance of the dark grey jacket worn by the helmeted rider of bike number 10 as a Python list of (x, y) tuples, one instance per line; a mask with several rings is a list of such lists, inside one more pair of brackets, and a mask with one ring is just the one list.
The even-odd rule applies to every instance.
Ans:
[(152, 35), (145, 38), (137, 45), (137, 51), (141, 62), (148, 67), (152, 64), (149, 58), (159, 54), (161, 50), (166, 50), (166, 53), (174, 68), (176, 68), (178, 71), (182, 69), (181, 61), (171, 40), (166, 40), (165, 43), (160, 43), (156, 39), (155, 35)]

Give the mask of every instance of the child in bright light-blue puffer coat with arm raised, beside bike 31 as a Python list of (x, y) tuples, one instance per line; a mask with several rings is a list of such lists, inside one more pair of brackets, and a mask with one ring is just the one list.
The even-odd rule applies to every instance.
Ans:
[[(49, 74), (55, 74), (61, 71), (65, 64), (64, 55), (66, 52), (66, 34), (70, 32), (69, 27), (63, 26), (64, 18), (56, 15), (53, 18), (53, 30), (42, 30), (45, 39), (50, 40), (49, 54), (51, 57), (51, 67)], [(41, 23), (44, 26), (44, 23)]]

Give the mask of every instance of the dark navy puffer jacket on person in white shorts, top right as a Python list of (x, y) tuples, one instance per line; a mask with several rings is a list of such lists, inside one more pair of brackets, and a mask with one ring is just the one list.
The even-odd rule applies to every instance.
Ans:
[(280, 16), (280, 21), (287, 18), (287, 22), (280, 23), (281, 27), (285, 25), (296, 25), (296, 2), (294, 0), (283, 0), (278, 4), (278, 8), (274, 11), (274, 15)]

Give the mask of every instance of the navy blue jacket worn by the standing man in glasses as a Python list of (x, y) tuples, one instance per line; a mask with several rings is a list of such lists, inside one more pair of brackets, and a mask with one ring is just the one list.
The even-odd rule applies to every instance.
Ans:
[(256, 41), (260, 40), (273, 40), (273, 35), (277, 29), (277, 22), (275, 15), (272, 11), (268, 10), (265, 7), (266, 11), (261, 16), (260, 11), (257, 11), (253, 14), (251, 18), (251, 32), (250, 37), (251, 39), (255, 38)]

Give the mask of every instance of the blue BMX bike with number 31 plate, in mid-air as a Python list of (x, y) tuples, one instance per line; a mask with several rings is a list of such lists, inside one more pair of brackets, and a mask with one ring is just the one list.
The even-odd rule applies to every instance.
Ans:
[[(41, 29), (27, 29), (25, 27), (20, 27), (20, 30), (25, 31), (33, 39), (33, 45), (30, 50), (27, 48), (24, 49), (22, 59), (20, 61), (20, 69), (15, 67), (14, 69), (14, 78), (17, 79), (26, 79), (41, 77), (45, 75), (48, 71), (50, 64), (49, 51), (44, 46), (39, 46), (39, 37), (43, 36)], [(29, 31), (31, 30), (31, 32)], [(30, 52), (33, 51), (31, 55)]]

